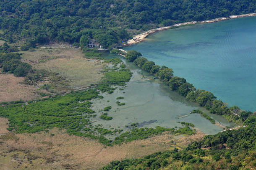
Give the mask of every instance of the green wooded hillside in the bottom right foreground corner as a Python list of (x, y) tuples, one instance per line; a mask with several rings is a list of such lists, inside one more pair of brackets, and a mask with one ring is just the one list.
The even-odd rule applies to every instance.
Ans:
[(166, 150), (139, 159), (112, 161), (100, 170), (251, 170), (255, 169), (253, 123), (238, 130), (207, 135), (182, 151)]

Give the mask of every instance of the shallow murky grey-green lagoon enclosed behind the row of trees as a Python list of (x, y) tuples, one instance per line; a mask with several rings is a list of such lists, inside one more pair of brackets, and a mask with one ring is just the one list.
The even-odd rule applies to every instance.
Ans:
[[(110, 55), (109, 57), (113, 57)], [(124, 129), (128, 128), (125, 125), (138, 122), (142, 127), (182, 127), (179, 122), (190, 122), (195, 124), (195, 129), (199, 129), (206, 134), (216, 134), (222, 131), (217, 125), (211, 124), (200, 114), (189, 114), (193, 109), (201, 109), (207, 112), (198, 104), (191, 103), (185, 100), (176, 92), (170, 91), (167, 86), (161, 84), (159, 79), (152, 79), (151, 74), (142, 71), (132, 63), (128, 63), (129, 69), (133, 72), (131, 81), (127, 83), (124, 90), (116, 89), (114, 93), (104, 93), (104, 99), (94, 99), (92, 102), (93, 108), (98, 116), (97, 122), (94, 125), (102, 124), (104, 128)], [(147, 80), (152, 79), (152, 80)], [(125, 93), (123, 93), (125, 92)], [(117, 100), (118, 96), (123, 96), (124, 99)], [(109, 101), (109, 102), (107, 102)], [(123, 106), (118, 106), (116, 101), (125, 103)], [(112, 120), (106, 121), (99, 118), (101, 109), (111, 106), (108, 111), (108, 116), (113, 117)], [(104, 111), (103, 111), (104, 112)], [(209, 114), (209, 113), (208, 113)], [(178, 119), (181, 116), (188, 115)], [(216, 122), (221, 122), (225, 126), (233, 126), (227, 120), (219, 115), (209, 114)], [(146, 121), (146, 122), (145, 122)], [(144, 122), (144, 123), (143, 123)], [(153, 122), (153, 123), (150, 123)], [(118, 128), (119, 126), (119, 128)]]

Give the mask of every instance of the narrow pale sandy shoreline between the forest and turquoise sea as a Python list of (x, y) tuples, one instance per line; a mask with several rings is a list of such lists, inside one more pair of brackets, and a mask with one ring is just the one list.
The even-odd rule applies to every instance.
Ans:
[(167, 30), (169, 28), (176, 27), (176, 26), (188, 25), (188, 24), (197, 24), (197, 23), (202, 23), (202, 24), (204, 24), (204, 23), (215, 23), (215, 22), (219, 22), (219, 21), (223, 21), (223, 20), (230, 20), (230, 19), (233, 19), (233, 18), (242, 18), (242, 17), (249, 17), (249, 16), (256, 16), (256, 13), (241, 14), (241, 15), (230, 15), (228, 18), (220, 17), (220, 18), (215, 18), (215, 19), (212, 19), (212, 20), (190, 21), (190, 22), (186, 22), (186, 23), (178, 23), (178, 24), (174, 24), (174, 25), (171, 25), (171, 26), (155, 28), (155, 29), (149, 30), (145, 33), (142, 33), (142, 34), (139, 34), (139, 35), (135, 36), (132, 40), (128, 40), (127, 44), (124, 44), (123, 46), (130, 46), (130, 45), (139, 43), (139, 42), (143, 41), (143, 39), (146, 38), (146, 36), (148, 36), (149, 34), (155, 33), (156, 31), (160, 31), (160, 30)]

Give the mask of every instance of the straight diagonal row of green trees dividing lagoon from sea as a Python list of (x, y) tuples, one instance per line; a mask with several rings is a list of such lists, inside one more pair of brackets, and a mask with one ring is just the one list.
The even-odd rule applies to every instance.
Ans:
[[(159, 77), (170, 90), (177, 91), (180, 95), (184, 96), (188, 101), (196, 102), (201, 107), (205, 107), (210, 113), (224, 115), (227, 119), (231, 119), (233, 122), (242, 124), (253, 113), (248, 111), (242, 111), (239, 107), (233, 106), (228, 108), (221, 100), (217, 99), (214, 94), (209, 91), (196, 89), (193, 84), (190, 84), (186, 79), (173, 76), (172, 69), (159, 65), (155, 65), (154, 61), (148, 61), (142, 57), (141, 53), (130, 50), (126, 53), (125, 58), (129, 62), (135, 63), (141, 69), (155, 74)], [(197, 111), (199, 112), (199, 111)], [(201, 112), (200, 112), (201, 113)], [(204, 114), (204, 113), (201, 113)], [(204, 115), (205, 117), (207, 115)], [(207, 118), (211, 122), (214, 120)]]

